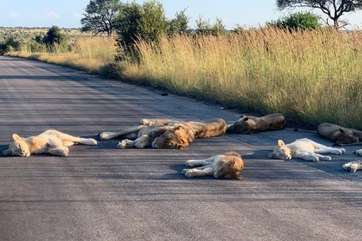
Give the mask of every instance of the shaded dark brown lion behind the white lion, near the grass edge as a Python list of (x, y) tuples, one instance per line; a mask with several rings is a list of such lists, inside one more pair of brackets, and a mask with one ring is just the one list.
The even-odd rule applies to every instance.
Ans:
[(281, 130), (285, 126), (285, 118), (282, 114), (271, 114), (263, 117), (240, 116), (241, 119), (228, 125), (228, 133), (250, 134)]

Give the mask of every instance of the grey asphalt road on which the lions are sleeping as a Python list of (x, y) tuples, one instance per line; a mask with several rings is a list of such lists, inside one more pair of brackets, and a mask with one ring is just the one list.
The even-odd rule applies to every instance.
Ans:
[[(96, 137), (144, 118), (231, 122), (239, 113), (80, 71), (0, 57), (0, 149), (57, 129)], [(68, 157), (0, 158), (0, 240), (362, 240), (362, 171), (348, 147), (331, 162), (268, 159), (286, 128), (197, 139), (186, 150), (72, 146)], [(185, 161), (233, 150), (243, 180), (186, 178)]]

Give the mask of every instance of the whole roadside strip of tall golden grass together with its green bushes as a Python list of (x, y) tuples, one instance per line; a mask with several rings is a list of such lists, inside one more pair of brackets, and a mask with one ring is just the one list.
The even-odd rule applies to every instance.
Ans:
[(243, 112), (362, 129), (361, 31), (323, 27), (308, 12), (233, 30), (200, 17), (192, 30), (186, 9), (167, 20), (155, 1), (122, 6), (117, 36), (39, 43), (37, 51), (23, 44), (7, 55), (127, 78)]

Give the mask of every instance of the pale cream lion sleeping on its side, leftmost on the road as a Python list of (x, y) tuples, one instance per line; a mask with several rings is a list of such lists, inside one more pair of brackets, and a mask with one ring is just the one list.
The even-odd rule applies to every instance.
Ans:
[(10, 143), (9, 149), (4, 151), (4, 155), (30, 156), (31, 154), (49, 153), (57, 156), (67, 156), (68, 146), (77, 143), (84, 145), (97, 145), (94, 139), (73, 137), (71, 135), (58, 132), (57, 130), (47, 130), (35, 137), (22, 138), (13, 134), (14, 141)]

